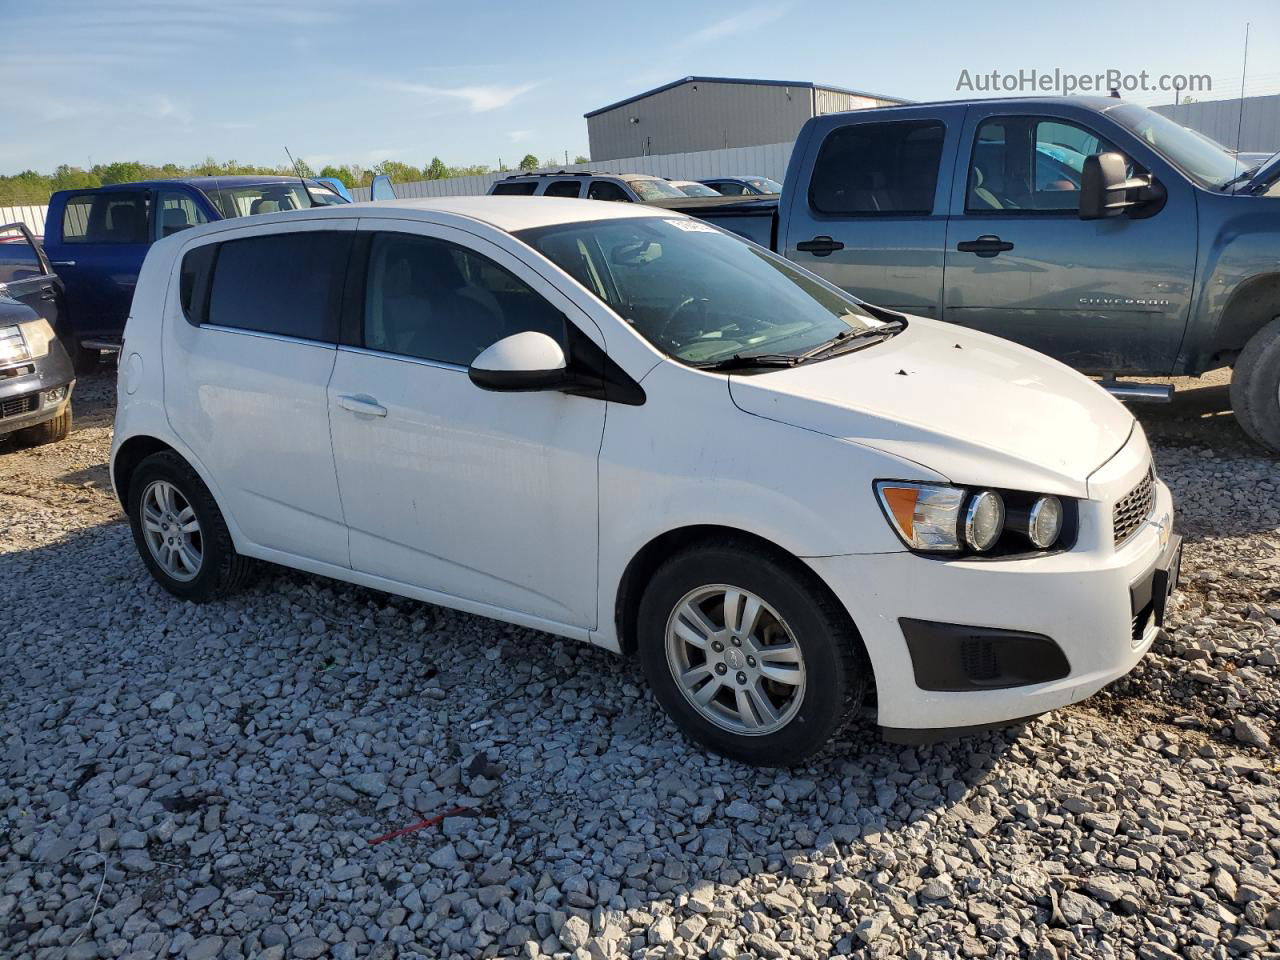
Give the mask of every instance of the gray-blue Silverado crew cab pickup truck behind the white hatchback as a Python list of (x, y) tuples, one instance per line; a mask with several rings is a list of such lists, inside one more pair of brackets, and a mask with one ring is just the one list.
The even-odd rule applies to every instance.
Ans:
[(1251, 169), (1121, 100), (978, 100), (815, 116), (780, 198), (663, 206), (1120, 396), (1233, 366), (1235, 416), (1280, 452), (1277, 180), (1280, 155)]

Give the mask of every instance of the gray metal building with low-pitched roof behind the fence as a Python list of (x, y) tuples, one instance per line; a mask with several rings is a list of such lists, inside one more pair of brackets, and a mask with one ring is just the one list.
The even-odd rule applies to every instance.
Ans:
[(797, 83), (685, 77), (586, 114), (591, 160), (787, 143), (810, 116), (905, 102)]

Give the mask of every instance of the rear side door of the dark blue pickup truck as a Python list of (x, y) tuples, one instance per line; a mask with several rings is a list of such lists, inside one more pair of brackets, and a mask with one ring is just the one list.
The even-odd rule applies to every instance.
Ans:
[(67, 288), (77, 340), (119, 339), (151, 244), (151, 191), (73, 193), (51, 260)]

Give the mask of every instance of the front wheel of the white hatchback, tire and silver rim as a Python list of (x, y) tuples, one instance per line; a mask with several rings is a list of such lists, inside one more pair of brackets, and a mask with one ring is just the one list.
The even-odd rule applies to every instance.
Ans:
[(745, 763), (804, 762), (867, 686), (844, 609), (754, 544), (726, 540), (667, 561), (640, 600), (637, 639), (676, 724)]

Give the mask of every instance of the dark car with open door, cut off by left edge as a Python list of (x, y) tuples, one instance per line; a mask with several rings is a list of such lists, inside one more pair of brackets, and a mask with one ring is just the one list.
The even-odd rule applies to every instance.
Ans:
[(24, 447), (72, 429), (76, 372), (54, 328), (61, 284), (26, 224), (0, 227), (0, 438)]

